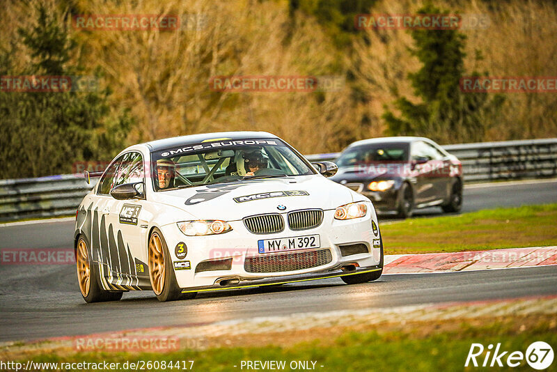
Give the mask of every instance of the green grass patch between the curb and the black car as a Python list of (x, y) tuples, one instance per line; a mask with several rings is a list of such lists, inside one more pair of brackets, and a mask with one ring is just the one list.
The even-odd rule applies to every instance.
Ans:
[(381, 232), (385, 254), (557, 245), (557, 204), (408, 219)]

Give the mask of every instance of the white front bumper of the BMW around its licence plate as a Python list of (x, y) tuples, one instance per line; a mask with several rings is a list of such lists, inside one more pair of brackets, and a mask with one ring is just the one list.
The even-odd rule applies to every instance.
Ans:
[[(362, 272), (361, 270), (375, 270), (381, 261), (381, 249), (374, 241), (380, 239), (379, 233), (372, 231), (372, 221), (377, 222), (375, 209), (370, 204), (365, 217), (339, 221), (334, 219), (334, 210), (325, 210), (323, 222), (316, 228), (303, 231), (292, 231), (285, 226), (281, 233), (253, 234), (250, 233), (242, 221), (229, 222), (233, 231), (220, 235), (207, 235), (188, 237), (184, 235), (176, 224), (162, 226), (161, 230), (168, 245), (173, 264), (182, 261), (185, 263), (182, 270), (175, 270), (178, 286), (185, 291), (197, 292), (200, 290), (215, 290), (226, 288), (244, 288), (245, 286), (260, 286), (264, 284), (280, 284), (290, 280), (321, 279), (323, 277), (337, 277), (343, 274)], [(281, 251), (276, 254), (259, 254), (258, 240), (285, 239), (304, 235), (320, 235), (319, 249), (299, 249)], [(175, 247), (180, 244), (187, 246), (187, 255), (178, 258)], [(340, 246), (361, 244), (367, 247), (365, 253), (343, 256)], [(301, 270), (278, 272), (248, 272), (246, 271), (246, 258), (271, 257), (278, 254), (295, 254), (299, 252), (330, 250), (331, 259), (323, 265), (315, 265)], [(231, 258), (230, 270), (210, 270), (196, 272), (199, 263), (204, 261), (225, 260)], [(288, 258), (287, 258), (288, 260)], [(353, 265), (356, 272), (344, 272), (343, 266)], [(175, 267), (175, 266), (174, 266)], [(287, 280), (288, 279), (288, 280)], [(221, 285), (224, 283), (224, 285)]]

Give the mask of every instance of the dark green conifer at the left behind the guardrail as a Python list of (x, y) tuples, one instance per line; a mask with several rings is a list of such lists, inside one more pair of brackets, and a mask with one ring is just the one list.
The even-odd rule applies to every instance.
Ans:
[[(19, 40), (0, 51), (0, 75), (76, 76), (81, 68), (70, 65), (76, 45), (63, 26), (64, 15), (43, 3), (33, 10), (35, 24), (19, 29)], [(16, 52), (29, 56), (24, 67), (13, 63)], [(126, 111), (112, 114), (108, 96), (107, 89), (0, 91), (1, 178), (70, 173), (74, 162), (111, 159), (134, 121)]]

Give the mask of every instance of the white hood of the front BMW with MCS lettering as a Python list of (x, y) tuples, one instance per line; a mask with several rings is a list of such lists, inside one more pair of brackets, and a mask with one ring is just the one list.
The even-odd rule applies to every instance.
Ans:
[[(256, 179), (153, 194), (154, 201), (180, 208), (195, 219), (226, 221), (260, 213), (335, 209), (362, 199), (347, 187), (322, 176)], [(285, 209), (279, 210), (278, 206)]]

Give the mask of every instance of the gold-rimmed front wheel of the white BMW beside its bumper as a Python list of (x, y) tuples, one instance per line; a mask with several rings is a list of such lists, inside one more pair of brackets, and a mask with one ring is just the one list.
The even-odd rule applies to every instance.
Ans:
[(166, 241), (156, 227), (149, 235), (148, 255), (151, 287), (160, 302), (185, 300), (196, 296), (197, 293), (182, 293), (176, 281)]

